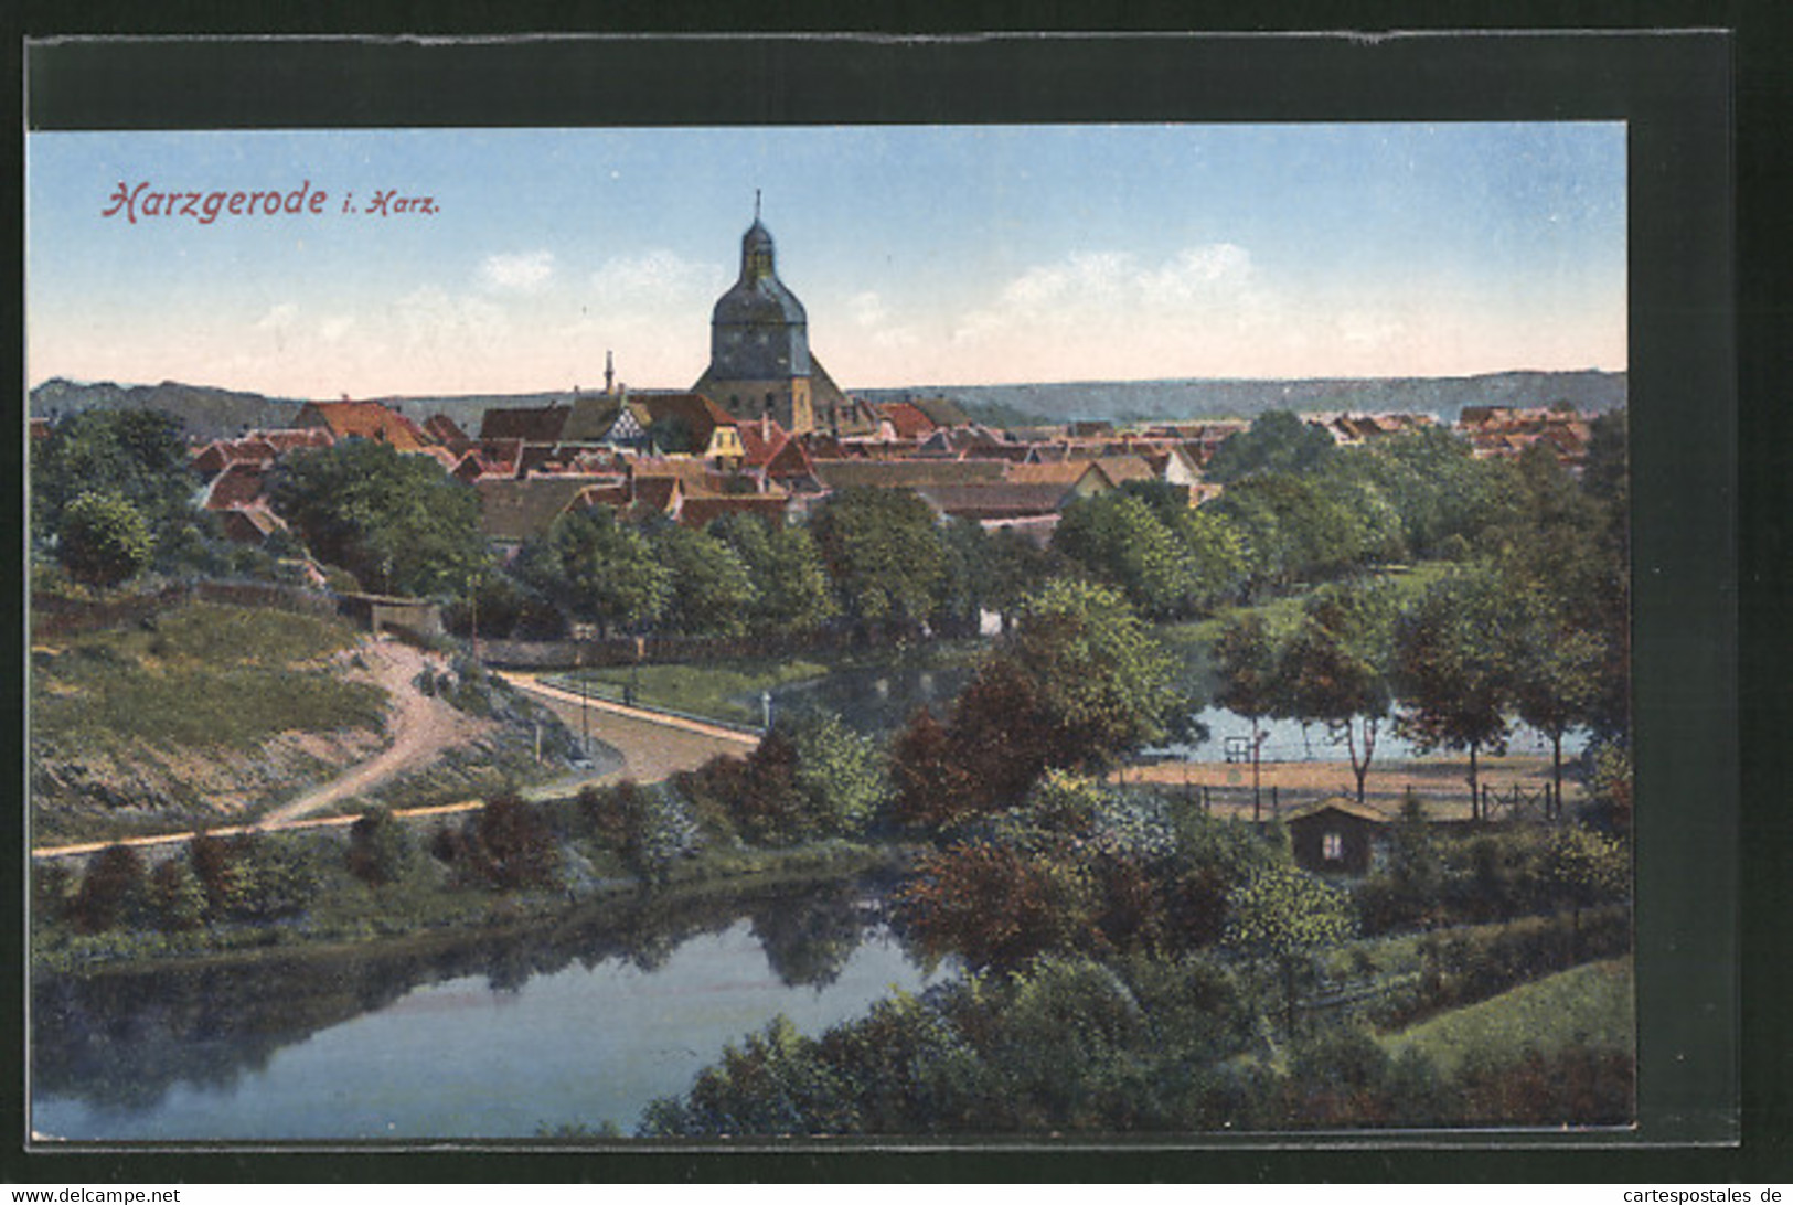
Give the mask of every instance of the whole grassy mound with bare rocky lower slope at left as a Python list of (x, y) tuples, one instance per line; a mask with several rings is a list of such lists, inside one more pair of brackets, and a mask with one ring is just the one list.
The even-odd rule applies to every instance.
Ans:
[(206, 823), (384, 742), (333, 619), (192, 602), (32, 647), (34, 841)]

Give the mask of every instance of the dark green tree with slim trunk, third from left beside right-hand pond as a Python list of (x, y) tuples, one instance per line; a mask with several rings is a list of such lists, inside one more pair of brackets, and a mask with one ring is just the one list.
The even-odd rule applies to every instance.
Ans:
[(1470, 818), (1481, 818), (1481, 750), (1506, 750), (1515, 608), (1488, 568), (1440, 577), (1395, 624), (1397, 726), (1420, 750), (1468, 753)]

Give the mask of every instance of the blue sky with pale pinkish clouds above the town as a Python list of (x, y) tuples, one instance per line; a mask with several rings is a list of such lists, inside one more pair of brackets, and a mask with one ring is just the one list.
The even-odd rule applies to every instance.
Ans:
[(32, 133), (27, 377), (683, 389), (757, 190), (848, 389), (1626, 368), (1624, 126), (1529, 122)]

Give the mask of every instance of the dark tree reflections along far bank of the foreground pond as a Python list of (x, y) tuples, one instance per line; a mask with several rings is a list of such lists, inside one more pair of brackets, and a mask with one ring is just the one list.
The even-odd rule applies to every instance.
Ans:
[(32, 1092), (104, 1112), (154, 1108), (176, 1085), (231, 1090), (283, 1047), (384, 1010), (409, 992), (484, 977), (520, 992), (574, 963), (644, 974), (687, 941), (746, 918), (787, 988), (832, 984), (884, 923), (880, 884), (805, 884), (730, 898), (642, 893), (536, 929), (429, 934), (351, 954), (292, 952), (183, 967), (34, 975)]

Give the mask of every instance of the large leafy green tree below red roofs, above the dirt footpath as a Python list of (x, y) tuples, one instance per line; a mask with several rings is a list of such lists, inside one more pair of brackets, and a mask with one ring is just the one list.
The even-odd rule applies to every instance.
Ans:
[(375, 439), (344, 439), (282, 457), (269, 502), (317, 559), (368, 588), (457, 595), (489, 556), (479, 493), (427, 455)]

